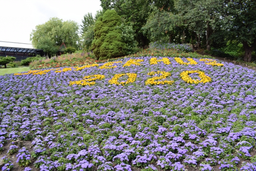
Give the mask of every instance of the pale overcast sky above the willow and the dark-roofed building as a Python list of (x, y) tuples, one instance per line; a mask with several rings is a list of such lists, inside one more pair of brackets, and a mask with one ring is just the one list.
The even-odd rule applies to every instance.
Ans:
[[(99, 0), (1, 0), (0, 41), (31, 43), (29, 35), (52, 17), (82, 24), (83, 16), (102, 9)], [(0, 46), (32, 48), (32, 45), (0, 42)]]

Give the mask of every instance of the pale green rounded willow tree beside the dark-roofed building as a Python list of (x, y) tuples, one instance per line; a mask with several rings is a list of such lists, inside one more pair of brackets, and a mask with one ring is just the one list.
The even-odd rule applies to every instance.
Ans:
[(37, 25), (35, 30), (32, 30), (30, 40), (34, 48), (38, 48), (41, 41), (48, 42), (49, 40), (54, 47), (59, 47), (64, 42), (67, 46), (77, 48), (79, 40), (78, 29), (79, 26), (75, 21), (50, 18), (49, 21)]

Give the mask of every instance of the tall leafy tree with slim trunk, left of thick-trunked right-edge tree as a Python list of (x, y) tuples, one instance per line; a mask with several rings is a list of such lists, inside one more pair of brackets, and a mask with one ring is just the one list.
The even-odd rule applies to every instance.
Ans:
[[(175, 3), (178, 14), (182, 17), (182, 25), (190, 30), (201, 46), (201, 37), (205, 37), (207, 50), (210, 49), (210, 38), (214, 31), (221, 28), (223, 0), (177, 0)], [(192, 37), (191, 37), (192, 38)]]

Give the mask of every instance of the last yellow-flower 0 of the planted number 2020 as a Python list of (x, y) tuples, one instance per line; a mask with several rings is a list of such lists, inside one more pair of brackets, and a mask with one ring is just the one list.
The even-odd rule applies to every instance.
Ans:
[[(193, 80), (191, 77), (189, 77), (189, 74), (192, 74), (192, 73), (197, 73), (198, 74), (198, 77), (201, 78), (201, 80)], [(184, 71), (180, 74), (181, 76), (181, 79), (184, 80), (185, 82), (187, 83), (195, 83), (195, 84), (198, 84), (198, 83), (207, 83), (207, 82), (211, 82), (211, 78), (206, 76), (204, 72), (200, 71), (200, 70), (187, 70), (187, 71)]]

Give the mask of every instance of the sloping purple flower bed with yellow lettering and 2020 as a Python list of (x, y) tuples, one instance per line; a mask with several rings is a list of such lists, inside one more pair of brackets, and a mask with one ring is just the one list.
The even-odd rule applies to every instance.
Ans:
[(31, 140), (12, 153), (41, 171), (253, 170), (256, 73), (192, 59), (0, 76), (1, 149)]

